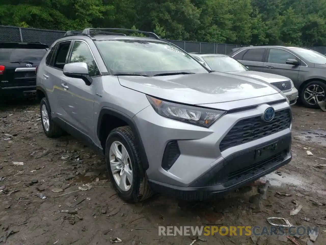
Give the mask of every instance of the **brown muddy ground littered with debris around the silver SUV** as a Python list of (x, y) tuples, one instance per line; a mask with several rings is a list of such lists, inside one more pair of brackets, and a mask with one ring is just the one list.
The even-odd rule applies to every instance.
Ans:
[[(318, 226), (315, 244), (325, 244), (326, 167), (317, 165), (326, 164), (326, 113), (295, 106), (293, 116), (293, 160), (266, 176), (271, 186), (259, 210), (253, 204), (256, 187), (232, 192), (222, 201), (189, 204), (156, 196), (145, 203), (125, 204), (111, 188), (101, 157), (71, 136), (45, 137), (38, 105), (2, 106), (0, 245), (102, 245), (110, 244), (110, 237), (119, 237), (121, 244), (128, 245), (189, 245), (193, 237), (160, 237), (157, 227), (264, 226), (268, 217), (288, 218), (296, 226)], [(307, 150), (313, 155), (307, 155)], [(62, 159), (65, 155), (69, 158)], [(83, 186), (87, 183), (92, 186)], [(92, 188), (79, 190), (82, 187)], [(293, 199), (303, 208), (290, 216), (296, 206)], [(77, 214), (61, 212), (68, 210), (77, 210)], [(303, 245), (307, 237), (295, 239)], [(207, 241), (193, 244), (294, 244), (276, 236), (256, 241), (255, 237), (217, 233), (204, 238)]]

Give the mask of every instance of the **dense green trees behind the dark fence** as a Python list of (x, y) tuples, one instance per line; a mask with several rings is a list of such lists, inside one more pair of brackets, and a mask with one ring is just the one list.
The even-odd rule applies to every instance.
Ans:
[(326, 0), (10, 0), (0, 24), (138, 28), (172, 40), (326, 45)]

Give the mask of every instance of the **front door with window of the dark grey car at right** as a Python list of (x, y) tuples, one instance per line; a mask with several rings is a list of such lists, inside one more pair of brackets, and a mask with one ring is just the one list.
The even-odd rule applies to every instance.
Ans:
[(288, 65), (287, 59), (296, 59), (301, 62), (301, 59), (285, 49), (269, 48), (263, 72), (289, 77), (295, 83), (299, 76), (300, 65)]

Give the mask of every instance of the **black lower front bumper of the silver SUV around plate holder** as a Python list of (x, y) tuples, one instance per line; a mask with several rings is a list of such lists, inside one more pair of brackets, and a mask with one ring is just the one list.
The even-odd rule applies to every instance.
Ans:
[[(278, 150), (263, 160), (255, 160), (257, 148), (278, 141)], [(183, 200), (203, 200), (240, 188), (277, 170), (292, 159), (291, 133), (218, 159), (215, 167), (201, 175), (189, 187), (180, 187), (150, 180), (153, 191)]]

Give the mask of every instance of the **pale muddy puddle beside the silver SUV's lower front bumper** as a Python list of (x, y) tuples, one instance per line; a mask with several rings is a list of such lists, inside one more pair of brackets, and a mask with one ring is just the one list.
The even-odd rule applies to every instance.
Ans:
[(307, 191), (314, 191), (321, 195), (326, 195), (326, 191), (321, 190), (318, 187), (313, 186), (311, 184), (308, 184), (306, 180), (300, 178), (299, 176), (294, 176), (294, 175), (291, 176), (285, 173), (282, 173), (282, 175), (280, 176), (277, 173), (272, 172), (264, 176), (262, 179), (268, 180), (271, 186), (275, 186), (275, 187), (294, 186)]

